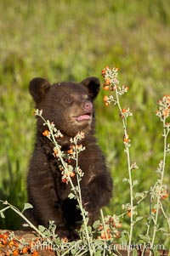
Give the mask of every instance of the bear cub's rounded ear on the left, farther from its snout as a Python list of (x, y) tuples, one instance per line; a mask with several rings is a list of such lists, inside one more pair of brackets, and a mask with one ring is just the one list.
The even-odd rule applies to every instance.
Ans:
[(29, 85), (30, 94), (36, 103), (42, 101), (49, 88), (50, 83), (41, 77), (33, 78)]

